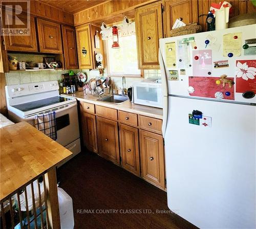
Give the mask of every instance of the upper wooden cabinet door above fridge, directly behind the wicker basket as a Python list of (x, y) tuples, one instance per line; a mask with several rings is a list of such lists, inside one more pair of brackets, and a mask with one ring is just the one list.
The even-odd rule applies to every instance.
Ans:
[(176, 19), (182, 20), (186, 25), (198, 22), (198, 1), (170, 0), (165, 2), (166, 34), (170, 36), (170, 30)]

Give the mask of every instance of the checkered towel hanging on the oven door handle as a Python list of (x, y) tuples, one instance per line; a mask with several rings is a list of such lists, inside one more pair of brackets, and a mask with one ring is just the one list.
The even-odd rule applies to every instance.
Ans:
[(35, 116), (35, 127), (55, 141), (57, 139), (55, 111)]

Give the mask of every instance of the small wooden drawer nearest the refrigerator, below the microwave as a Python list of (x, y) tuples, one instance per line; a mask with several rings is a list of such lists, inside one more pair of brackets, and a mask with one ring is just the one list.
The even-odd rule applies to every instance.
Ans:
[(139, 116), (139, 126), (142, 129), (162, 134), (162, 120)]

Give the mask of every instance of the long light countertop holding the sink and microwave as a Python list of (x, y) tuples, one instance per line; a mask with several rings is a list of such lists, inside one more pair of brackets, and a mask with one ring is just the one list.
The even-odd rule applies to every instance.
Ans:
[(95, 97), (92, 95), (84, 95), (83, 91), (77, 91), (76, 93), (70, 94), (70, 95), (61, 94), (61, 96), (76, 98), (78, 101), (93, 103), (99, 106), (110, 107), (110, 108), (131, 112), (131, 113), (137, 113), (137, 114), (141, 114), (142, 116), (152, 117), (156, 119), (163, 119), (163, 109), (134, 104), (134, 103), (131, 103), (130, 100), (127, 100), (121, 104), (106, 103), (106, 102), (97, 101), (99, 97)]

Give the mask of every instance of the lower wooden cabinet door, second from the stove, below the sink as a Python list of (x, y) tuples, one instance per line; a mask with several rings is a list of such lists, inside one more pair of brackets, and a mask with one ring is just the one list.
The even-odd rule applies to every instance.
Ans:
[(99, 154), (104, 158), (120, 164), (117, 122), (97, 117), (97, 135)]

